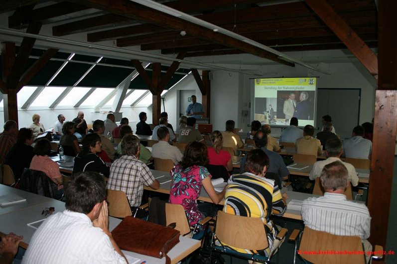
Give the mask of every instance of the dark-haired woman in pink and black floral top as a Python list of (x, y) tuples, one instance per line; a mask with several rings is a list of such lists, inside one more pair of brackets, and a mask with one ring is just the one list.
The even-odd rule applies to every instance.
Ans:
[(192, 142), (186, 146), (182, 161), (171, 170), (169, 201), (183, 206), (190, 225), (195, 225), (209, 216), (205, 215), (204, 210), (200, 210), (201, 204), (197, 204), (202, 185), (215, 204), (225, 196), (225, 189), (220, 193), (215, 192), (211, 175), (204, 167), (207, 163), (207, 147), (202, 143)]

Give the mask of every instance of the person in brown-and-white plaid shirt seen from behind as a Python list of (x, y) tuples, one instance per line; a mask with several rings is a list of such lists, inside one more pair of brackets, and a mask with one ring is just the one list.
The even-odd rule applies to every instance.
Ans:
[(160, 183), (151, 174), (146, 164), (138, 160), (139, 139), (126, 135), (122, 139), (123, 156), (110, 167), (108, 189), (122, 190), (127, 194), (133, 211), (141, 205), (143, 185), (158, 189)]

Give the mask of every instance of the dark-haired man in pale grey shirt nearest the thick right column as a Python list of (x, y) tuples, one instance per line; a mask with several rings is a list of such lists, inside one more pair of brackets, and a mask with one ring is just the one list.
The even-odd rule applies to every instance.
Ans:
[(371, 159), (372, 142), (363, 138), (365, 134), (362, 126), (353, 128), (352, 138), (343, 141), (343, 152), (346, 158)]

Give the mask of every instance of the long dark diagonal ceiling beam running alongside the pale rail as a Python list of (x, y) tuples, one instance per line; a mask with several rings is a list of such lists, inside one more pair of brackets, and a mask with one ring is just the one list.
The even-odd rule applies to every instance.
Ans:
[(147, 8), (129, 0), (118, 0), (113, 2), (109, 2), (108, 0), (73, 0), (73, 2), (75, 1), (90, 7), (102, 9), (113, 14), (123, 15), (131, 19), (152, 23), (168, 29), (189, 31), (194, 37), (226, 45), (231, 48), (240, 49), (255, 56), (272, 60), (280, 64), (294, 66), (293, 63), (282, 60), (277, 55), (246, 43), (242, 40), (232, 38), (219, 32), (214, 32), (211, 29), (204, 28), (197, 24), (179, 19), (175, 16), (168, 15), (151, 8)]

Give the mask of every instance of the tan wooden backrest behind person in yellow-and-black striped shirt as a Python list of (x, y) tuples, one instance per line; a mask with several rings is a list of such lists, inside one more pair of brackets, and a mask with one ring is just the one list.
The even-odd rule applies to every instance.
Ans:
[(229, 246), (263, 250), (268, 247), (264, 223), (259, 217), (247, 217), (218, 211), (215, 234)]

